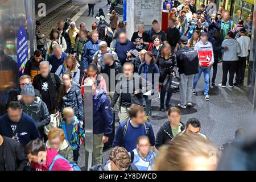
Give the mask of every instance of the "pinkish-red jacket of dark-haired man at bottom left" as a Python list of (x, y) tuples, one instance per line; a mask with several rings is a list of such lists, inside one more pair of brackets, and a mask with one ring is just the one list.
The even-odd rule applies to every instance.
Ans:
[[(58, 152), (54, 149), (47, 148), (46, 164), (38, 164), (31, 162), (30, 166), (36, 171), (49, 171), (49, 167), (52, 164), (55, 156)], [(69, 165), (69, 163), (63, 159), (57, 159), (53, 164), (52, 171), (74, 171), (74, 169)]]

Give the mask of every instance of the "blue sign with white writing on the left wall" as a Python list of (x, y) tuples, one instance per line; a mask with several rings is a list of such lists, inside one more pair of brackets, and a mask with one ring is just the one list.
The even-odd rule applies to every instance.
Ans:
[(28, 60), (27, 32), (21, 25), (17, 36), (17, 63), (19, 76), (24, 74), (24, 68)]

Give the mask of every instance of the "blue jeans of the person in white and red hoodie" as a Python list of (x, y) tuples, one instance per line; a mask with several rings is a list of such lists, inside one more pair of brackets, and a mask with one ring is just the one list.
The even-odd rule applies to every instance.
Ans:
[(201, 74), (204, 73), (204, 95), (209, 93), (210, 88), (210, 68), (209, 67), (199, 67), (199, 73), (195, 75), (193, 89), (196, 89), (197, 82), (199, 81)]

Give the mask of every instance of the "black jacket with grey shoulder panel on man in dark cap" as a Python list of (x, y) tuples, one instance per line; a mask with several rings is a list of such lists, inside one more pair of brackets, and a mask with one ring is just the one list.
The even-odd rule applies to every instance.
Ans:
[(199, 72), (198, 52), (195, 49), (181, 50), (180, 60), (185, 75), (194, 75)]

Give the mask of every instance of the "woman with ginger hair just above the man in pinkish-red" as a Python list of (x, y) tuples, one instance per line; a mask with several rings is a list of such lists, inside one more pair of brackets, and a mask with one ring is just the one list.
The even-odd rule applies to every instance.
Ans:
[(65, 140), (65, 133), (62, 129), (53, 127), (49, 130), (46, 147), (53, 148), (69, 162), (73, 162), (73, 150), (68, 141)]

